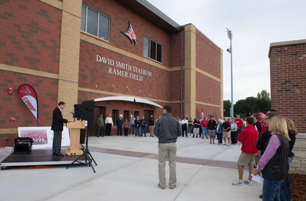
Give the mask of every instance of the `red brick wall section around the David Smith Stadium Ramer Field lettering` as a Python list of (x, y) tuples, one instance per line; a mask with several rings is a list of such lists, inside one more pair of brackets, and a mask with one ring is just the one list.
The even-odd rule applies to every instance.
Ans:
[[(152, 73), (152, 77), (142, 75), (143, 80), (138, 81), (111, 74), (108, 70), (109, 67), (112, 69), (123, 69), (97, 62), (96, 55), (113, 59), (115, 62), (119, 61), (121, 63), (148, 70)], [(128, 73), (131, 72), (129, 70), (123, 71)], [(151, 66), (82, 40), (80, 41), (79, 77), (80, 87), (96, 89), (95, 85), (98, 85), (99, 90), (141, 96), (144, 98), (169, 100), (169, 71)], [(127, 89), (127, 86), (130, 90)]]

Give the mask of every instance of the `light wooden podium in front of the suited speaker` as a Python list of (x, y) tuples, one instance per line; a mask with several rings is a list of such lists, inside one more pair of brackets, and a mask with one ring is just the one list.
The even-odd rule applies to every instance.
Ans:
[(80, 149), (80, 129), (85, 128), (85, 121), (76, 121), (67, 123), (67, 128), (70, 132), (70, 149), (66, 150), (68, 156), (82, 155), (83, 151)]

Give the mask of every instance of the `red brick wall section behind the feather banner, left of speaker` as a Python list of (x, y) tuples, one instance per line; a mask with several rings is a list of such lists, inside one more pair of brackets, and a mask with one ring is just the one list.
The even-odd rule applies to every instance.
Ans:
[[(51, 126), (52, 112), (57, 106), (57, 85), (56, 79), (38, 77), (23, 73), (0, 70), (0, 129), (17, 129), (18, 127), (37, 126), (37, 121), (26, 104), (18, 94), (18, 87), (21, 84), (33, 86), (38, 97), (39, 126)], [(8, 87), (13, 88), (13, 94), (8, 94)], [(14, 123), (10, 118), (15, 117)], [(9, 141), (4, 141), (5, 137)], [(1, 135), (0, 147), (12, 146), (16, 135)]]

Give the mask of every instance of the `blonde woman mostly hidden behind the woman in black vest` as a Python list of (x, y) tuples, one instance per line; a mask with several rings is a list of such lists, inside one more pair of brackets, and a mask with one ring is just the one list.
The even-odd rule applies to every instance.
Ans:
[(287, 123), (287, 128), (288, 128), (288, 135), (290, 138), (289, 141), (289, 154), (288, 154), (288, 166), (287, 166), (287, 174), (286, 174), (286, 179), (280, 184), (280, 200), (291, 200), (291, 195), (290, 195), (290, 179), (288, 176), (288, 170), (289, 170), (289, 165), (290, 162), (293, 160), (294, 153), (292, 152), (294, 143), (295, 143), (295, 135), (297, 135), (297, 130), (294, 126), (293, 121), (290, 118), (285, 118), (286, 123)]

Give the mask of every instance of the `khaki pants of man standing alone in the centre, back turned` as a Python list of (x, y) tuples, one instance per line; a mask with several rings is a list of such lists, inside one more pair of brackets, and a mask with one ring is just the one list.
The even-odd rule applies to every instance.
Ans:
[(170, 178), (169, 186), (176, 185), (176, 143), (164, 143), (158, 145), (158, 175), (159, 185), (164, 188), (166, 186), (165, 166), (168, 156)]

